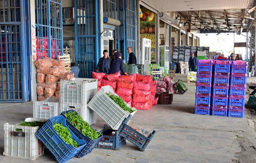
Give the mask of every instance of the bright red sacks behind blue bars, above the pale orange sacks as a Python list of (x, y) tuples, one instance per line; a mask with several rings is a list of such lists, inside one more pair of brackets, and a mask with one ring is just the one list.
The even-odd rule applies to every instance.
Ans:
[[(48, 36), (45, 36), (43, 38), (36, 38), (36, 59), (44, 58), (48, 56)], [(58, 46), (58, 40), (52, 39), (51, 36), (51, 54), (52, 58), (56, 59), (58, 56), (60, 56), (60, 48)], [(57, 55), (56, 55), (57, 54)]]

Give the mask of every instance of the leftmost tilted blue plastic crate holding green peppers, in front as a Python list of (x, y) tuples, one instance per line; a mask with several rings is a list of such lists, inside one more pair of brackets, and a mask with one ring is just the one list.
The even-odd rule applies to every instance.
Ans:
[(66, 125), (66, 119), (62, 115), (51, 117), (37, 132), (36, 136), (42, 143), (49, 149), (59, 163), (64, 163), (72, 157), (74, 157), (85, 146), (86, 142), (83, 139), (78, 139), (76, 135), (68, 128), (79, 147), (75, 148), (73, 145), (66, 144), (64, 140), (53, 129), (54, 123), (61, 123), (64, 127)]

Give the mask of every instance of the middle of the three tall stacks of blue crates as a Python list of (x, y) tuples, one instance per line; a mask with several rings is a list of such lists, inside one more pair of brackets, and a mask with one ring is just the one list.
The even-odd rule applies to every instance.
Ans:
[(227, 116), (230, 65), (228, 60), (216, 60), (214, 65), (212, 115), (215, 116)]

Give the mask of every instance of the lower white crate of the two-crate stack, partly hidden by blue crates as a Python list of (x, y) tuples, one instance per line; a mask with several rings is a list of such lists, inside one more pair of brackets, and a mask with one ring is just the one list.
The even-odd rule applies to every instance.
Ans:
[(96, 123), (96, 113), (87, 107), (87, 105), (76, 105), (76, 104), (68, 104), (68, 103), (60, 103), (60, 113), (62, 111), (67, 110), (75, 110), (81, 117), (89, 123), (89, 125), (92, 125)]

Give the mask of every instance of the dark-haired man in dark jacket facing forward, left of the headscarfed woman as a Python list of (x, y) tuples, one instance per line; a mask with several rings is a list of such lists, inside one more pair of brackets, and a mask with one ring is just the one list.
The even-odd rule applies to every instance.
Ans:
[(100, 71), (100, 72), (104, 72), (105, 74), (108, 74), (110, 70), (110, 62), (111, 62), (111, 59), (108, 57), (108, 50), (103, 50), (103, 57), (100, 58), (98, 62), (96, 72)]

